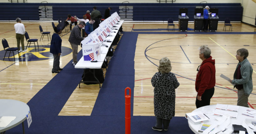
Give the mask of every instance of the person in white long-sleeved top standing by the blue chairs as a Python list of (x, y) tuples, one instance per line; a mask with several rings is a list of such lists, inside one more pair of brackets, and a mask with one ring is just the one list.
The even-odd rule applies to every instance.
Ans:
[(27, 52), (24, 48), (24, 35), (25, 35), (25, 27), (24, 24), (21, 23), (20, 18), (16, 18), (16, 24), (14, 25), (15, 32), (16, 32), (16, 39), (17, 39), (17, 47), (18, 51), (21, 52), (20, 50), (20, 42), (21, 42), (21, 47), (22, 47), (22, 52)]

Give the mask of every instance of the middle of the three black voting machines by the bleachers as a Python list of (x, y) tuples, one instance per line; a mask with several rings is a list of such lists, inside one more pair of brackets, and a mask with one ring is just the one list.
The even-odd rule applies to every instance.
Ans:
[[(201, 32), (203, 30), (203, 25), (204, 25), (203, 12), (204, 12), (203, 8), (195, 8), (194, 31)], [(200, 13), (201, 15), (197, 16), (198, 13)]]

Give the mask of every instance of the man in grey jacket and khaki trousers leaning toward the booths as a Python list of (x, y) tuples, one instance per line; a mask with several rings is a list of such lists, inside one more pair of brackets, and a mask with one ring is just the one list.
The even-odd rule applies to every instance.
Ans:
[(85, 22), (80, 22), (78, 25), (76, 25), (69, 36), (68, 41), (70, 42), (70, 45), (72, 47), (72, 54), (73, 54), (73, 64), (74, 66), (77, 63), (77, 49), (78, 49), (78, 45), (80, 45), (81, 41), (84, 39), (84, 37), (81, 37), (81, 28), (83, 28), (85, 26)]

